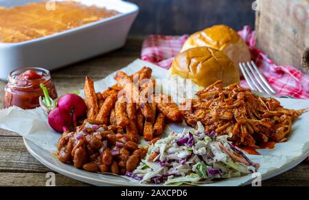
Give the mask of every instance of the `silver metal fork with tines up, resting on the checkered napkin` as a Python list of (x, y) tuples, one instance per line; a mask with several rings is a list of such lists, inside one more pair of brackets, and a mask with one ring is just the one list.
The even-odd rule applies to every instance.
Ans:
[[(278, 94), (278, 92), (271, 87), (271, 84), (267, 82), (262, 73), (260, 73), (258, 66), (256, 66), (253, 61), (247, 63), (242, 62), (239, 66), (242, 74), (244, 75), (244, 79), (246, 79), (251, 90), (266, 93), (268, 95)], [(281, 98), (294, 99), (290, 96), (281, 96)]]

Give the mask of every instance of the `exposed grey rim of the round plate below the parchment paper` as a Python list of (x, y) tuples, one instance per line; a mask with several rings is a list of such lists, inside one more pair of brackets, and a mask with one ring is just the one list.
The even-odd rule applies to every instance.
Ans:
[[(95, 179), (95, 178), (89, 177), (87, 175), (72, 173), (71, 171), (68, 171), (65, 168), (61, 168), (59, 166), (56, 166), (55, 164), (52, 164), (52, 162), (49, 162), (48, 160), (46, 160), (44, 158), (45, 155), (43, 155), (42, 151), (45, 151), (45, 153), (48, 153), (47, 155), (50, 156), (49, 159), (53, 159), (52, 158), (53, 155), (51, 153), (49, 153), (48, 151), (41, 149), (41, 147), (38, 147), (37, 145), (35, 145), (30, 140), (27, 140), (26, 138), (23, 138), (23, 142), (25, 144), (27, 151), (29, 151), (29, 153), (34, 158), (36, 158), (36, 160), (41, 162), (41, 164), (47, 166), (47, 168), (50, 168), (53, 171), (56, 171), (57, 173), (60, 173), (60, 174), (65, 175), (67, 177), (71, 177), (71, 178), (79, 180), (81, 182), (85, 182), (87, 184), (92, 184), (92, 185), (103, 185), (103, 184), (105, 184), (106, 186), (164, 186), (163, 184), (159, 184), (159, 185), (137, 184), (135, 182), (129, 182), (129, 181), (128, 181), (127, 184), (121, 184), (121, 183), (118, 183), (118, 182), (108, 182), (108, 181), (105, 181), (104, 179)], [(34, 148), (41, 149), (41, 151), (35, 151)], [(309, 156), (309, 149), (305, 153), (303, 153), (303, 155), (301, 155), (301, 156), (299, 156), (299, 157), (297, 157), (293, 160), (290, 160), (290, 162), (288, 162), (284, 166), (282, 166), (280, 168), (274, 168), (273, 170), (268, 171), (268, 173), (264, 173), (262, 175), (262, 181), (264, 181), (266, 179), (271, 179), (272, 177), (275, 177), (277, 175), (285, 173), (286, 171), (289, 171), (290, 169), (294, 168), (295, 166), (297, 166), (298, 164), (303, 162), (308, 156)], [(71, 167), (73, 167), (73, 166), (71, 166)], [(81, 169), (77, 169), (77, 168), (75, 168), (75, 169), (77, 171), (80, 171), (81, 173), (90, 173), (90, 172), (87, 172), (87, 171), (83, 171)], [(100, 174), (95, 173), (95, 175), (100, 175)], [(102, 176), (106, 176), (106, 175), (102, 175)], [(253, 181), (253, 178), (251, 180), (249, 180), (248, 182), (242, 184), (241, 186), (249, 185), (249, 184), (251, 184), (252, 181)], [(203, 186), (207, 186), (207, 185), (203, 185)]]

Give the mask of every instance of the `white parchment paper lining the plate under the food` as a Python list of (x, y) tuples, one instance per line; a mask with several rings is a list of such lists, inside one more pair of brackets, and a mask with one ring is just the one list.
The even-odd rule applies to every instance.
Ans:
[[(141, 60), (136, 60), (132, 64), (126, 66), (122, 71), (133, 74), (143, 66), (148, 66), (152, 68), (152, 78), (163, 79), (168, 74), (163, 68), (150, 64), (149, 62), (144, 62)], [(116, 72), (115, 72), (116, 73)], [(104, 79), (95, 82), (95, 90), (103, 91), (108, 86), (116, 84), (113, 76), (115, 73), (108, 75)], [(69, 81), (69, 80), (68, 80)], [(168, 88), (170, 83), (165, 83), (165, 88)], [(80, 96), (84, 97), (83, 90), (80, 90)], [(297, 99), (278, 99), (285, 108), (290, 109), (301, 109), (309, 108), (308, 100), (297, 100)], [(49, 151), (50, 153), (56, 153), (56, 145), (60, 134), (54, 132), (52, 128), (49, 127), (47, 123), (47, 116), (41, 110), (37, 108), (35, 110), (21, 110), (21, 108), (8, 108), (5, 110), (0, 110), (0, 127), (31, 140), (39, 147)], [(165, 136), (170, 132), (181, 132), (183, 124), (171, 123), (165, 129)], [(163, 135), (164, 136), (164, 135)], [(141, 143), (144, 143), (143, 141)], [(261, 155), (249, 155), (254, 162), (258, 162), (261, 167), (259, 173), (265, 175), (275, 168), (282, 168), (286, 166), (289, 162), (299, 158), (304, 153), (309, 150), (309, 112), (303, 114), (299, 120), (295, 121), (293, 124), (293, 132), (289, 136), (289, 140), (284, 143), (278, 143), (275, 149), (262, 149), (258, 150)], [(210, 186), (238, 186), (244, 184), (251, 179), (251, 175), (244, 177), (238, 177), (233, 179), (224, 180), (222, 182), (216, 182), (214, 184), (209, 184)]]

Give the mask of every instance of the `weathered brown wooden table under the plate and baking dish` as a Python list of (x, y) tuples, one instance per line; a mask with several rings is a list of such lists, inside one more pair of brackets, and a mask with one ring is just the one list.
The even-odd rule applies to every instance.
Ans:
[[(86, 75), (98, 80), (130, 64), (139, 58), (141, 41), (142, 38), (128, 38), (122, 49), (52, 72), (59, 95), (82, 88)], [(5, 82), (0, 82), (0, 88), (4, 86)], [(0, 96), (3, 97), (3, 89), (0, 90)], [(1, 98), (1, 106), (2, 103)], [(50, 171), (27, 152), (21, 136), (0, 129), (0, 186), (45, 186), (45, 175)], [(309, 163), (299, 164), (262, 185), (309, 186)], [(56, 186), (89, 185), (56, 173)]]

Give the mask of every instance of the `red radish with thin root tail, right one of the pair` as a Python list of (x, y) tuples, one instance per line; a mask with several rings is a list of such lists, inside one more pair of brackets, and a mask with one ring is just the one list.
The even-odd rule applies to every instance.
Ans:
[(78, 95), (67, 94), (62, 96), (57, 103), (58, 108), (65, 109), (73, 116), (73, 123), (76, 125), (78, 118), (87, 114), (87, 105), (84, 99)]

